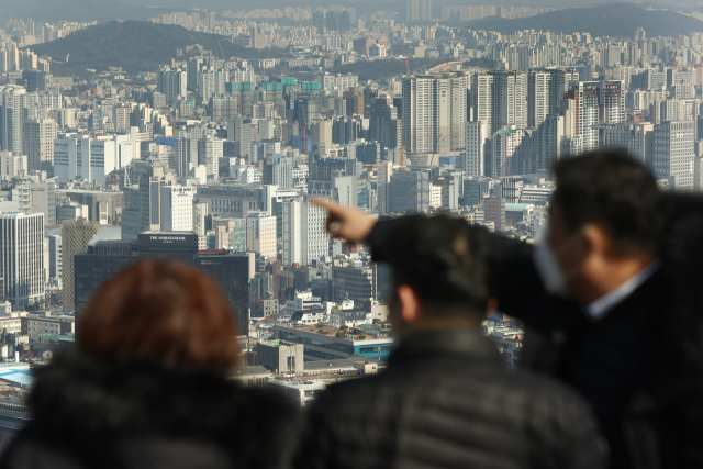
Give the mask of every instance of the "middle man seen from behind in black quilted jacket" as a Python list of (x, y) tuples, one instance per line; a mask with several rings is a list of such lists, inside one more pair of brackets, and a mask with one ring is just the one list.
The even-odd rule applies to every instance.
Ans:
[(388, 368), (321, 393), (295, 466), (605, 467), (607, 445), (581, 399), (510, 370), (481, 334), (491, 309), (488, 233), (447, 215), (398, 226), (402, 236), (373, 252), (392, 271)]

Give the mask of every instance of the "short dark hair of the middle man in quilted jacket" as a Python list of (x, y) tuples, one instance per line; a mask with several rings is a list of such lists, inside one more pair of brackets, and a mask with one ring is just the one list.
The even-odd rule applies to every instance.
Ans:
[(446, 214), (405, 219), (394, 254), (384, 256), (393, 291), (401, 284), (412, 288), (426, 314), (482, 317), (490, 297), (488, 232)]

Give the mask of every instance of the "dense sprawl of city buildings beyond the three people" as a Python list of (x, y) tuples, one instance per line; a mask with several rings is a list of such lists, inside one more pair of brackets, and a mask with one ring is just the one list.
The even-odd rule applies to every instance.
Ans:
[[(304, 404), (377, 372), (392, 347), (388, 268), (330, 238), (309, 197), (378, 216), (448, 212), (529, 241), (553, 164), (572, 155), (625, 148), (662, 188), (703, 189), (702, 34), (501, 34), (448, 24), (543, 11), (405, 7), (404, 18), (343, 7), (164, 14), (153, 21), (286, 56), (192, 44), (158, 71), (86, 77), (54, 77), (48, 57), (20, 49), (81, 25), (11, 21), (0, 31), (0, 359), (51, 358), (80, 334), (76, 317), (104, 279), (175, 257), (215, 277), (232, 303), (245, 351), (232, 378)], [(404, 68), (406, 57), (446, 64), (378, 81), (330, 71)], [(469, 67), (477, 58), (493, 67)], [(483, 328), (516, 364), (521, 323), (496, 314)], [(0, 367), (0, 394), (21, 405), (18, 370), (3, 390)], [(14, 404), (1, 402), (4, 438)]]

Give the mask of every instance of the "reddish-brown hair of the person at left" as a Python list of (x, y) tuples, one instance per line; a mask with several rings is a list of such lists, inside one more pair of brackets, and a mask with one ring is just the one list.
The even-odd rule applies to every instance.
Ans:
[(239, 353), (220, 287), (172, 260), (142, 260), (120, 271), (92, 297), (78, 326), (78, 348), (105, 365), (226, 369)]

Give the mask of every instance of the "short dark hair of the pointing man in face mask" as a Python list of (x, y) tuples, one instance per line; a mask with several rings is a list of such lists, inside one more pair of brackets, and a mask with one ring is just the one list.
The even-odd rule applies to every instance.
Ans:
[(554, 176), (553, 201), (569, 230), (596, 222), (620, 255), (659, 250), (662, 194), (649, 170), (627, 153), (609, 149), (562, 159)]

